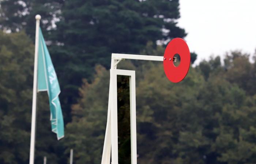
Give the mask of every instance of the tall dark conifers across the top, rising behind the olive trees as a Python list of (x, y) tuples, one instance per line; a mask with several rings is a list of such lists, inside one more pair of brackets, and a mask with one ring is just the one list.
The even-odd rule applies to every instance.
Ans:
[(0, 28), (24, 29), (32, 39), (34, 17), (42, 16), (65, 122), (71, 121), (70, 106), (76, 103), (82, 79), (90, 81), (97, 64), (109, 68), (112, 52), (138, 54), (149, 41), (156, 46), (157, 40), (186, 35), (177, 26), (178, 0), (3, 0), (0, 5)]

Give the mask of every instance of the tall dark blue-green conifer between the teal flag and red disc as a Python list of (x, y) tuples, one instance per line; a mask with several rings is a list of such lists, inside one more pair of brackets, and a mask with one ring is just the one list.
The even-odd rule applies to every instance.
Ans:
[[(67, 0), (50, 52), (58, 73), (69, 122), (83, 78), (92, 78), (95, 64), (110, 67), (111, 53), (138, 54), (151, 41), (183, 38), (177, 26), (178, 0)], [(164, 30), (163, 30), (164, 29)], [(163, 55), (163, 54), (159, 54)]]

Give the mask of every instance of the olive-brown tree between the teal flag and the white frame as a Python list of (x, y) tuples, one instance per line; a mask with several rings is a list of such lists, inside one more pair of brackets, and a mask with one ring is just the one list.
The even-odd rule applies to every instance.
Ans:
[(76, 164), (101, 163), (108, 112), (109, 73), (102, 66), (97, 66), (95, 70), (92, 83), (83, 81), (81, 98), (72, 107), (72, 122), (66, 126), (64, 144), (74, 148)]

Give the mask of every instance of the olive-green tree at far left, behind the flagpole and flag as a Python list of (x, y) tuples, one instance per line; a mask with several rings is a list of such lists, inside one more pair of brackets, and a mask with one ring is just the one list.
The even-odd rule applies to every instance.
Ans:
[[(34, 45), (25, 32), (0, 32), (0, 163), (29, 163)], [(51, 132), (47, 93), (38, 93), (35, 163), (64, 163), (64, 145)], [(64, 139), (63, 139), (64, 140)]]

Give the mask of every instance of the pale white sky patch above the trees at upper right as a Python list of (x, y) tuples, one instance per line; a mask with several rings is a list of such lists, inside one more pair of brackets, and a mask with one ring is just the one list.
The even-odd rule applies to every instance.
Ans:
[(256, 0), (180, 0), (178, 26), (197, 61), (224, 56), (230, 50), (254, 54), (256, 48)]

